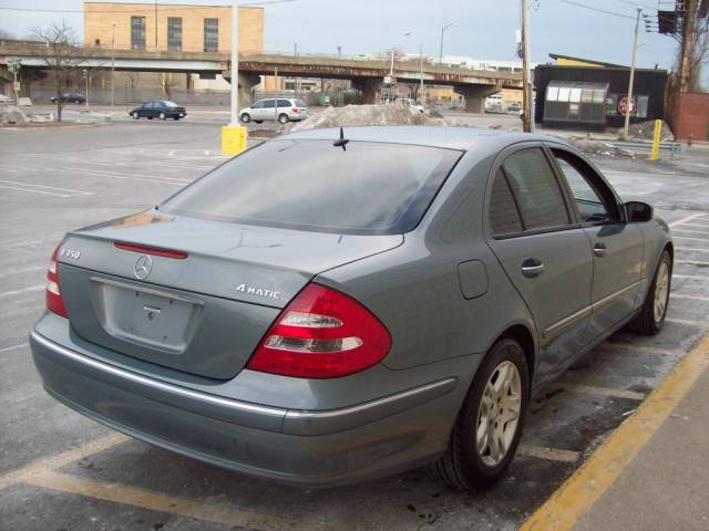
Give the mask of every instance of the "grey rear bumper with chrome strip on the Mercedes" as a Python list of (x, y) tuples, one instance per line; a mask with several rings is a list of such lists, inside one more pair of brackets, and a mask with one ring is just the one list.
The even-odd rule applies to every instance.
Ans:
[(434, 459), (464, 394), (450, 377), (347, 408), (285, 409), (148, 378), (37, 331), (30, 343), (45, 389), (79, 413), (193, 458), (309, 487), (362, 481)]

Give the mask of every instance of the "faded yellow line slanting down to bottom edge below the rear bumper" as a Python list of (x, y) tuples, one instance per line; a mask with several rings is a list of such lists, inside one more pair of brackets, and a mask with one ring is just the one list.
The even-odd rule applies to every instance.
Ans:
[(288, 529), (294, 531), (312, 530), (312, 523), (298, 524), (269, 514), (269, 511), (256, 513), (238, 509), (226, 503), (209, 503), (181, 496), (165, 494), (153, 490), (112, 483), (90, 478), (80, 478), (66, 473), (47, 471), (27, 478), (25, 483), (49, 488), (71, 494), (85, 496), (114, 503), (140, 507), (151, 511), (166, 512), (197, 520), (224, 523), (248, 529)]

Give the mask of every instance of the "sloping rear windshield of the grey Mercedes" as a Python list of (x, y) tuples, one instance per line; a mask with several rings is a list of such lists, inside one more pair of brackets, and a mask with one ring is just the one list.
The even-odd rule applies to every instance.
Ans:
[(171, 214), (317, 232), (415, 228), (461, 152), (332, 140), (271, 140), (165, 201)]

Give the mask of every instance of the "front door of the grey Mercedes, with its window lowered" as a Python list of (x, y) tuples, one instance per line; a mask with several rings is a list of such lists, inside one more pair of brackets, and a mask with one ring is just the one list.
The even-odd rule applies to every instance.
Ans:
[(643, 231), (625, 221), (620, 199), (590, 164), (564, 147), (551, 146), (551, 152), (593, 248), (593, 339), (641, 303)]

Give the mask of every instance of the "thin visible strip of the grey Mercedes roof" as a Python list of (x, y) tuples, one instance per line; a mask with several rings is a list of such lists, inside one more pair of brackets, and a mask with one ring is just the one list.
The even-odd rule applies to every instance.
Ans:
[[(387, 142), (392, 144), (412, 144), (420, 146), (443, 147), (467, 150), (481, 144), (501, 149), (510, 144), (524, 140), (558, 142), (543, 135), (528, 133), (507, 133), (497, 129), (475, 127), (434, 127), (422, 125), (373, 125), (343, 127), (345, 137), (359, 142)], [(308, 129), (284, 135), (280, 139), (325, 140), (337, 139), (339, 127)]]

